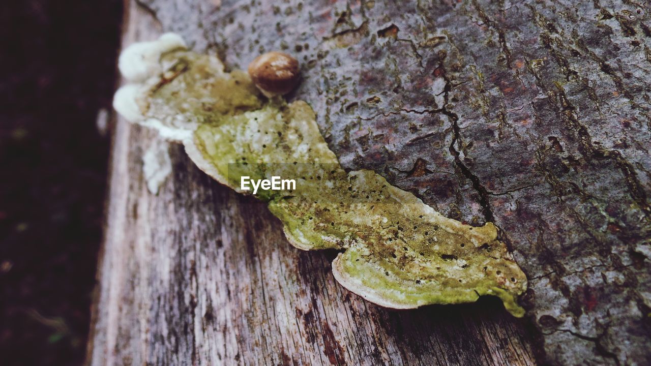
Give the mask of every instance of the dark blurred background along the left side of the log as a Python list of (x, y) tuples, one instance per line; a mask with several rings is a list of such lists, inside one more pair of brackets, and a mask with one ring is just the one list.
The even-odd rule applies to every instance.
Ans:
[(0, 9), (0, 365), (80, 365), (122, 1), (5, 0)]

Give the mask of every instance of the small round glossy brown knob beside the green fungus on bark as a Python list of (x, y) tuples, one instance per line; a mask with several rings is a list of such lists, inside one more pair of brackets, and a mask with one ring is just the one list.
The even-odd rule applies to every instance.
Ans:
[(298, 83), (298, 61), (283, 52), (268, 52), (249, 64), (253, 83), (268, 97), (286, 94)]

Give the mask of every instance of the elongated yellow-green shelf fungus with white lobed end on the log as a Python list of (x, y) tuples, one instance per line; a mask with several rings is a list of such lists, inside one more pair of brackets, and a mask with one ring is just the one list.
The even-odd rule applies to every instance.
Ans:
[(131, 122), (182, 143), (202, 171), (242, 193), (242, 177), (296, 180), (262, 190), (294, 246), (340, 249), (339, 283), (396, 309), (474, 302), (493, 295), (521, 317), (527, 286), (492, 223), (445, 218), (373, 171), (346, 172), (328, 148), (311, 107), (265, 98), (246, 72), (225, 72), (212, 55), (189, 51), (172, 34), (133, 44), (120, 56), (130, 83), (114, 99)]

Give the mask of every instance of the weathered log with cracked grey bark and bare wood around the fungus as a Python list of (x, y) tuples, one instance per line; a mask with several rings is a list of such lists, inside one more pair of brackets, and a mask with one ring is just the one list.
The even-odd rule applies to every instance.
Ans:
[[(231, 68), (294, 53), (290, 99), (311, 104), (344, 167), (495, 222), (530, 279), (545, 363), (651, 363), (648, 4), (143, 4)], [(177, 148), (148, 195), (145, 136), (118, 124), (94, 363), (532, 362), (531, 337), (490, 300), (394, 312), (349, 294), (329, 253), (292, 249), (262, 204)]]

